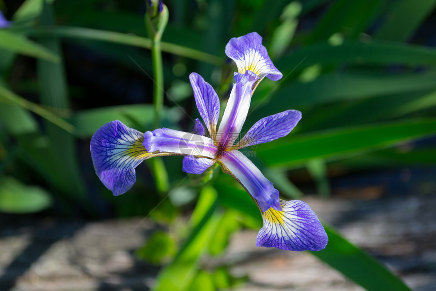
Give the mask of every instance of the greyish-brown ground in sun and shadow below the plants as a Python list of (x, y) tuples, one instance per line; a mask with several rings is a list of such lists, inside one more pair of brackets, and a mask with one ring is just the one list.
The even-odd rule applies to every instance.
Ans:
[[(357, 197), (305, 200), (414, 290), (436, 290), (436, 194)], [(159, 268), (135, 260), (133, 251), (155, 230), (141, 217), (1, 221), (0, 290), (148, 290)], [(255, 241), (256, 231), (237, 233), (224, 256), (207, 265), (247, 276), (241, 291), (363, 290), (308, 252), (258, 248)]]

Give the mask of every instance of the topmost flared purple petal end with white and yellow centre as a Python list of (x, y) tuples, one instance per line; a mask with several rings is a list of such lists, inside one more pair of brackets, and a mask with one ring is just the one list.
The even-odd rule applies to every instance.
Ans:
[(267, 49), (262, 45), (262, 37), (258, 33), (249, 33), (239, 38), (233, 38), (226, 45), (226, 55), (236, 62), (239, 73), (250, 70), (260, 79), (267, 77), (277, 81), (283, 77), (274, 67)]

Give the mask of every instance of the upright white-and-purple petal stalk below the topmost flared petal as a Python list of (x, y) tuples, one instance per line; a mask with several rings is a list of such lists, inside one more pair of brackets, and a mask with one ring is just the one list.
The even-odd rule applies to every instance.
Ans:
[(250, 107), (253, 84), (259, 78), (252, 72), (247, 71), (245, 74), (238, 75), (237, 80), (238, 82), (233, 84), (229, 102), (227, 102), (223, 119), (216, 133), (215, 140), (223, 149), (232, 146), (241, 132)]

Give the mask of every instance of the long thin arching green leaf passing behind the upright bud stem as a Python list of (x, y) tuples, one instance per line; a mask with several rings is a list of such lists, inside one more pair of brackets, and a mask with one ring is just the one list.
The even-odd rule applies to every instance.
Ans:
[[(27, 29), (25, 30), (25, 33), (31, 36), (52, 36), (59, 38), (111, 42), (147, 49), (150, 49), (152, 46), (152, 41), (148, 38), (81, 27), (53, 26), (47, 28)], [(215, 65), (221, 65), (223, 62), (223, 59), (220, 57), (176, 44), (161, 42), (161, 49), (163, 52), (185, 56)]]

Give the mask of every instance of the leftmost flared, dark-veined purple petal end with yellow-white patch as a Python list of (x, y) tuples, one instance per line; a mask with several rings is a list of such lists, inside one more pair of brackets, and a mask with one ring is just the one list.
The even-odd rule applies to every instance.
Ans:
[(91, 138), (95, 172), (115, 196), (129, 190), (136, 181), (135, 168), (152, 157), (142, 146), (143, 134), (115, 120), (101, 126)]

